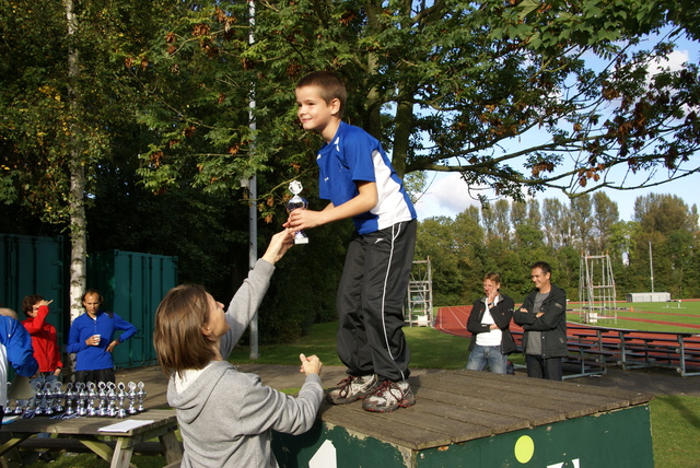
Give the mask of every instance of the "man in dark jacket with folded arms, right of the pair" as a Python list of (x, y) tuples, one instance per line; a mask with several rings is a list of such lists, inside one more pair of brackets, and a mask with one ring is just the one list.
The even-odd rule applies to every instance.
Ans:
[(513, 320), (523, 327), (523, 353), (527, 375), (561, 381), (561, 358), (567, 355), (567, 293), (551, 283), (551, 267), (545, 261), (532, 266), (533, 291)]

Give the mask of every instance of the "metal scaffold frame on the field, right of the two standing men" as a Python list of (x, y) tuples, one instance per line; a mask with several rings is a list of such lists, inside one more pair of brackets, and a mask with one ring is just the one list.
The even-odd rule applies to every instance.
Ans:
[(580, 318), (583, 324), (614, 320), (617, 324), (617, 290), (610, 256), (581, 255), (579, 274)]

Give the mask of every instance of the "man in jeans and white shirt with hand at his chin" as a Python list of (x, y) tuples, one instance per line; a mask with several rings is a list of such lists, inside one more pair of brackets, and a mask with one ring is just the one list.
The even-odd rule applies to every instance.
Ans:
[(513, 317), (513, 300), (501, 294), (501, 276), (490, 272), (483, 277), (485, 296), (471, 306), (467, 330), (471, 332), (467, 368), (489, 370), (505, 374), (508, 354), (515, 351), (515, 341), (509, 327)]

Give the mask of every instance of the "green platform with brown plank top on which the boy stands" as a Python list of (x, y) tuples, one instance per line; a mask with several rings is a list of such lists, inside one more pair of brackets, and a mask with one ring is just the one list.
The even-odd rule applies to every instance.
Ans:
[(325, 405), (301, 436), (275, 434), (282, 467), (652, 468), (651, 395), (487, 372), (411, 377), (417, 405)]

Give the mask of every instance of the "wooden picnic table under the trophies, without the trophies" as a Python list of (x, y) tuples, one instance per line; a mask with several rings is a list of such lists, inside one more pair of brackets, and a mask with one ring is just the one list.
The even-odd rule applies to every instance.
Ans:
[[(148, 423), (130, 429), (126, 432), (105, 432), (102, 428), (122, 421), (149, 421)], [(72, 418), (50, 419), (36, 417), (33, 419), (19, 419), (9, 424), (3, 424), (0, 430), (2, 445), (0, 456), (5, 455), (20, 443), (38, 433), (61, 434), (61, 437), (80, 441), (91, 452), (110, 463), (112, 468), (131, 467), (131, 455), (136, 444), (158, 437), (163, 446), (165, 459), (176, 466), (183, 458), (182, 447), (175, 431), (177, 430), (177, 417), (175, 410), (149, 410), (131, 414), (125, 419), (115, 418)], [(116, 441), (114, 448), (107, 441)]]

